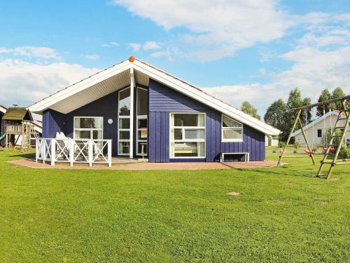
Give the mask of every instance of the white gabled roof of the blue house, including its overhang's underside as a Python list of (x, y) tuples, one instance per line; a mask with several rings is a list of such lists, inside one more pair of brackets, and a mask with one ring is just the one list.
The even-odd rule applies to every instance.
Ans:
[(204, 93), (200, 88), (133, 57), (32, 104), (29, 110), (42, 113), (45, 109), (50, 108), (64, 114), (69, 113), (89, 102), (130, 85), (130, 69), (134, 69), (135, 79), (139, 84), (148, 86), (149, 79), (154, 79), (169, 88), (217, 109), (241, 123), (260, 130), (262, 133), (267, 135), (279, 135), (280, 133), (280, 130)]

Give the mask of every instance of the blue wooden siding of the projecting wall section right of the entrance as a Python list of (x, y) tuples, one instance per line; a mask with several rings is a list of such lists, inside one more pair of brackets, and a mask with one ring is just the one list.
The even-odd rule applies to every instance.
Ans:
[[(205, 159), (169, 159), (169, 113), (204, 112), (206, 114)], [(243, 142), (221, 142), (221, 112), (207, 107), (172, 88), (150, 80), (149, 84), (149, 160), (167, 161), (219, 161), (225, 152), (250, 153), (251, 161), (265, 159), (265, 135), (244, 125)], [(232, 156), (230, 160), (241, 160), (243, 156)]]

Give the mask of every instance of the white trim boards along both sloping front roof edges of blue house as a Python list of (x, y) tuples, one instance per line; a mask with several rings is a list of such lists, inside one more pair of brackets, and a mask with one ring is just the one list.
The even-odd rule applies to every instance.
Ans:
[[(182, 81), (172, 74), (168, 74), (167, 72), (148, 65), (146, 62), (138, 59), (135, 59), (134, 62), (125, 60), (123, 62), (120, 62), (118, 65), (104, 69), (102, 72), (94, 74), (87, 79), (83, 79), (82, 81), (75, 83), (72, 86), (64, 88), (64, 90), (60, 90), (57, 93), (50, 95), (49, 97), (46, 97), (45, 99), (36, 102), (35, 104), (32, 104), (29, 109), (31, 112), (41, 113), (45, 109), (50, 109), (50, 107), (55, 105), (57, 102), (76, 95), (77, 93), (80, 93), (83, 90), (96, 85), (97, 83), (105, 81), (106, 79), (109, 79), (112, 76), (116, 76), (117, 74), (125, 72), (125, 70), (129, 69), (134, 69), (136, 71), (135, 74), (145, 74), (148, 76), (148, 78), (163, 83), (165, 86), (173, 88), (174, 90), (177, 90), (180, 93), (187, 95), (188, 97), (192, 97), (194, 100), (202, 102), (203, 104), (206, 104), (207, 106), (214, 108), (241, 123), (251, 126), (252, 128), (259, 130), (261, 133), (267, 135), (279, 135), (281, 132), (272, 126), (269, 126), (267, 123), (259, 121), (258, 119), (255, 119), (252, 116), (241, 112), (239, 109), (232, 107), (229, 104), (226, 104), (225, 102), (222, 102), (221, 100), (208, 95), (207, 93), (204, 93), (204, 91), (200, 90), (200, 88), (197, 88), (190, 83), (187, 83), (186, 81)], [(97, 99), (98, 97), (94, 98), (94, 100)], [(64, 109), (62, 109), (62, 111), (64, 111)]]

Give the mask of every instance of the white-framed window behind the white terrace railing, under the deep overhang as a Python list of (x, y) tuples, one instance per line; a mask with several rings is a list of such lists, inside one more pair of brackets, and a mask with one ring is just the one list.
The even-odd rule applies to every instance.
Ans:
[(74, 117), (74, 139), (103, 139), (103, 117)]

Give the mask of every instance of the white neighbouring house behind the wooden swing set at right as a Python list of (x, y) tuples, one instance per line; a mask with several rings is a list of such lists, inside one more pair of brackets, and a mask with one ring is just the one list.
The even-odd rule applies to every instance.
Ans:
[[(325, 134), (327, 133), (327, 130), (334, 129), (338, 115), (339, 113), (336, 111), (328, 112), (307, 124), (307, 126), (304, 126), (304, 133), (307, 136), (307, 141), (309, 142), (310, 147), (324, 147), (323, 141)], [(345, 124), (345, 116), (342, 116), (337, 127), (344, 127)], [(300, 145), (304, 147), (307, 146), (304, 137), (302, 136), (302, 130), (295, 131), (291, 136), (295, 137), (295, 142), (300, 143)], [(348, 139), (350, 139), (350, 128), (347, 128), (344, 142)]]

